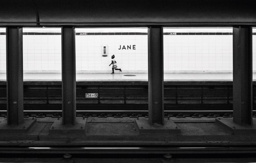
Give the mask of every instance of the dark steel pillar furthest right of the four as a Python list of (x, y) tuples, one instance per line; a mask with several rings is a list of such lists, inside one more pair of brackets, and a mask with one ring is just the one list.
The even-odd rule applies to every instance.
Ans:
[(233, 27), (233, 121), (253, 125), (252, 27)]

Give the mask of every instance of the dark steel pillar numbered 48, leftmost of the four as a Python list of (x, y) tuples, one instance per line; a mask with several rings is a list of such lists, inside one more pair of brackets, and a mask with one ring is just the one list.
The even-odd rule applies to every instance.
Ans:
[(20, 27), (6, 28), (7, 124), (23, 123), (23, 35)]

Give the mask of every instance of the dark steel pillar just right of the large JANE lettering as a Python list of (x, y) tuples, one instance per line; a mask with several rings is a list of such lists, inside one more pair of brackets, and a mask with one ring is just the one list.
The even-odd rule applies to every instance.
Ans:
[(148, 29), (149, 123), (164, 125), (163, 27)]

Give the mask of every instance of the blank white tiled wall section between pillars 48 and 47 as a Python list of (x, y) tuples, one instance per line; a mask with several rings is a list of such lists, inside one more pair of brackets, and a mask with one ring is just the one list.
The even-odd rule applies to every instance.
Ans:
[[(61, 33), (61, 28), (23, 28), (23, 32)], [(61, 72), (61, 35), (23, 35), (24, 72)]]

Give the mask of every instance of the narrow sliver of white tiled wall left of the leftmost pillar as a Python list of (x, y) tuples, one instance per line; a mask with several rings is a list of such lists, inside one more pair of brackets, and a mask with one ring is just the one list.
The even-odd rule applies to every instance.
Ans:
[[(0, 32), (6, 32), (0, 28)], [(6, 73), (6, 35), (0, 35), (0, 73)]]

